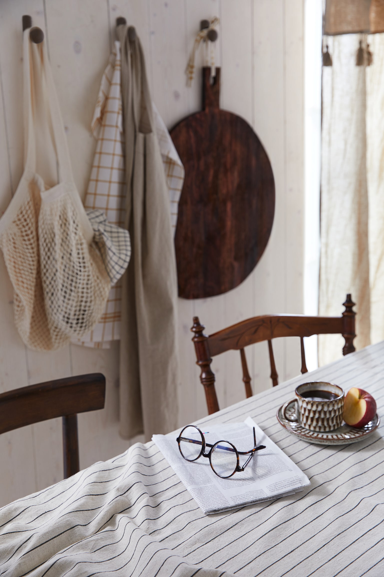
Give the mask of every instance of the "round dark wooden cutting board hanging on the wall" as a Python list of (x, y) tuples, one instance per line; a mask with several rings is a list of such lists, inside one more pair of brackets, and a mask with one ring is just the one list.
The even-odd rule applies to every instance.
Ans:
[(178, 294), (204, 298), (238, 286), (271, 234), (275, 182), (263, 145), (244, 119), (219, 109), (203, 68), (203, 110), (170, 132), (185, 168), (175, 235)]

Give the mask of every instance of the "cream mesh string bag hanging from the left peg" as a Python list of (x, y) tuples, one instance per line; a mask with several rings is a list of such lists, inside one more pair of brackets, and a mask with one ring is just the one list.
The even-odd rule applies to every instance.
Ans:
[(97, 323), (111, 281), (73, 182), (45, 41), (24, 32), (24, 173), (0, 220), (0, 248), (24, 343), (54, 350)]

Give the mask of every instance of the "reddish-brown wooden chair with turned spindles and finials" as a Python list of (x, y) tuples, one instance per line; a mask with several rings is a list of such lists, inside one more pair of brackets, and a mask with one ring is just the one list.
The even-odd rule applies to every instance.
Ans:
[(271, 362), (271, 379), (273, 387), (278, 384), (275, 358), (273, 358), (272, 339), (282, 336), (299, 336), (301, 343), (301, 372), (307, 373), (305, 364), (305, 351), (303, 337), (311, 335), (337, 334), (343, 335), (345, 344), (343, 355), (355, 350), (353, 339), (355, 338), (355, 316), (352, 310), (355, 305), (350, 294), (343, 303), (345, 310), (341, 317), (307, 317), (303, 314), (265, 314), (253, 317), (227, 327), (213, 335), (204, 335), (204, 326), (200, 324), (199, 317), (193, 317), (191, 331), (195, 333), (192, 340), (195, 344), (196, 364), (200, 366), (200, 381), (206, 393), (208, 413), (212, 414), (219, 410), (219, 404), (215, 390), (215, 374), (211, 369), (212, 357), (225, 353), (229, 350), (239, 350), (245, 384), (245, 394), (252, 396), (250, 376), (244, 347), (249, 344), (260, 343), (268, 340), (269, 361)]

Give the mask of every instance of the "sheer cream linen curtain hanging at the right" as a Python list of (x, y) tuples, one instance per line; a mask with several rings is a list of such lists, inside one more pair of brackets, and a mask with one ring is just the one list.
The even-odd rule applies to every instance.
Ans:
[[(359, 42), (373, 54), (356, 66)], [(326, 38), (322, 69), (319, 314), (356, 302), (356, 349), (384, 339), (384, 35)], [(319, 336), (319, 364), (341, 356), (341, 335)]]

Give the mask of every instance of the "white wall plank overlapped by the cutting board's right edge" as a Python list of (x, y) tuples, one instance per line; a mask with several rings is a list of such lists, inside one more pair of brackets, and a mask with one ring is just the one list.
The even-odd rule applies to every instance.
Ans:
[[(283, 0), (257, 0), (254, 13), (254, 129), (272, 164), (275, 219), (271, 238), (254, 271), (255, 314), (285, 312), (284, 278), (284, 42)], [(273, 341), (276, 368), (284, 378), (285, 339)], [(271, 387), (267, 343), (254, 347), (254, 392)]]

